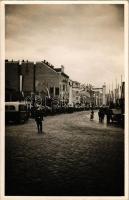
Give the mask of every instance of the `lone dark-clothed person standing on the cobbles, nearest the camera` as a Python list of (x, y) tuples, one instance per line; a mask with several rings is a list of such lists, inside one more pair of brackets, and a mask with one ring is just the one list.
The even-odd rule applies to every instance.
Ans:
[(37, 125), (37, 129), (38, 129), (38, 133), (43, 133), (43, 125), (42, 125), (42, 121), (43, 121), (43, 109), (42, 106), (38, 106), (35, 110), (35, 122)]

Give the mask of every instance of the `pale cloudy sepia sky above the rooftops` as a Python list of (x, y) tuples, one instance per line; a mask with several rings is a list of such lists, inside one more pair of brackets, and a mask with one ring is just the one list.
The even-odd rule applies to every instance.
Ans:
[(97, 87), (124, 77), (123, 5), (6, 5), (5, 31), (6, 59), (45, 59)]

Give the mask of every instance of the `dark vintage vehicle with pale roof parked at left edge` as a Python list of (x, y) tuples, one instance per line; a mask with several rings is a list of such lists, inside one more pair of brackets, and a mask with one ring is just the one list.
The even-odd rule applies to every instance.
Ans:
[(29, 118), (29, 108), (25, 102), (5, 102), (5, 122), (26, 122)]

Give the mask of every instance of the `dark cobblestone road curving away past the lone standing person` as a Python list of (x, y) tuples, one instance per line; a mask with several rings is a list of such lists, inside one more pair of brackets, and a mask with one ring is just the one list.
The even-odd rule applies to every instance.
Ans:
[(6, 126), (6, 195), (124, 195), (124, 131), (87, 111)]

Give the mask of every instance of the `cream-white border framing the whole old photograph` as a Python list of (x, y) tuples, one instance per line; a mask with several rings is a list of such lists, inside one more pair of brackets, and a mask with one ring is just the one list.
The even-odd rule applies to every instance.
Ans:
[[(125, 178), (125, 195), (124, 196), (5, 196), (5, 5), (9, 4), (124, 4), (124, 72), (125, 72), (125, 135), (124, 135), (124, 178)], [(129, 199), (129, 72), (128, 72), (128, 0), (121, 1), (1, 1), (0, 2), (0, 199), (1, 200), (128, 200)]]

